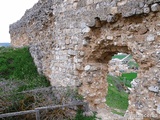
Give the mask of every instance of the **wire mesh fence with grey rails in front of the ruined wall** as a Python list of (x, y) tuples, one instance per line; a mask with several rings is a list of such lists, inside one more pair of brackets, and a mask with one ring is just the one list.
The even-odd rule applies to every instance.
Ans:
[(46, 87), (0, 96), (0, 120), (73, 120), (87, 110), (74, 87)]

